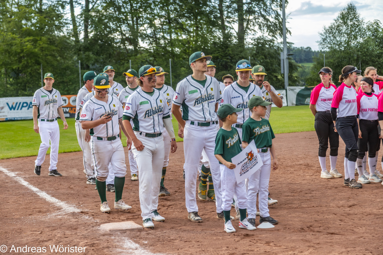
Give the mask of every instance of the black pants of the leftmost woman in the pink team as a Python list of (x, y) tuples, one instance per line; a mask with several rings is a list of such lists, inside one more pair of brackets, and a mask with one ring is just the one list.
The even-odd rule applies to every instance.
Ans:
[(330, 141), (330, 156), (338, 156), (339, 134), (334, 130), (334, 122), (330, 112), (317, 112), (315, 114), (314, 128), (319, 140), (319, 157), (326, 157)]

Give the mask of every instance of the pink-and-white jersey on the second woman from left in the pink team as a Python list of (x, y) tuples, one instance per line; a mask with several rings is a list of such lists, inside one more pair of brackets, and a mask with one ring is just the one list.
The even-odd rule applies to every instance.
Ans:
[(357, 92), (352, 86), (340, 84), (332, 97), (331, 107), (338, 108), (338, 118), (357, 115)]

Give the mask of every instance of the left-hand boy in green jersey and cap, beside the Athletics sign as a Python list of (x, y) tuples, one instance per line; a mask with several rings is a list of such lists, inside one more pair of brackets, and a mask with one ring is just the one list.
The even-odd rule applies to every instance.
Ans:
[[(245, 181), (238, 183), (234, 175), (236, 165), (231, 162), (231, 158), (242, 151), (241, 138), (238, 131), (232, 124), (237, 123), (237, 112), (241, 108), (234, 108), (231, 104), (223, 104), (219, 107), (217, 115), (222, 120), (223, 126), (219, 128), (216, 136), (216, 146), (214, 156), (218, 159), (221, 170), (221, 189), (222, 189), (222, 210), (225, 217), (224, 230), (228, 233), (236, 232), (230, 220), (230, 209), (233, 201), (234, 192), (237, 194), (237, 203), (241, 214), (239, 227), (255, 230), (256, 227), (247, 222), (246, 218), (246, 188)], [(234, 218), (233, 218), (234, 219)]]

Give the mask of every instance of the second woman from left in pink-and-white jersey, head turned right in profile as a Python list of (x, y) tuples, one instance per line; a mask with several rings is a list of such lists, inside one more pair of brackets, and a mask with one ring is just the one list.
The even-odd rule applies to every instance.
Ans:
[(355, 162), (358, 157), (358, 122), (357, 122), (357, 92), (351, 86), (361, 71), (347, 65), (342, 69), (339, 82), (342, 84), (334, 92), (331, 103), (331, 118), (336, 131), (346, 145), (344, 159), (344, 185), (350, 188), (362, 188), (355, 180)]

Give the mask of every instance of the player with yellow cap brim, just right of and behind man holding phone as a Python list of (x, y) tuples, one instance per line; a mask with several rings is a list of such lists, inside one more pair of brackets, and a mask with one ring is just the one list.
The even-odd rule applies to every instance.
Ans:
[[(136, 79), (138, 77), (136, 70), (129, 69), (128, 71), (123, 73), (123, 75), (125, 76), (126, 84), (128, 84), (128, 86), (126, 86), (118, 94), (118, 100), (121, 102), (122, 106), (125, 108), (126, 100), (139, 87), (136, 83)], [(130, 124), (133, 127), (132, 121), (130, 122)], [(131, 175), (130, 180), (136, 181), (138, 180), (138, 169), (137, 169), (137, 162), (136, 162), (136, 159), (134, 159), (132, 150), (129, 150), (128, 156), (129, 156), (129, 167), (130, 167), (130, 175)]]

